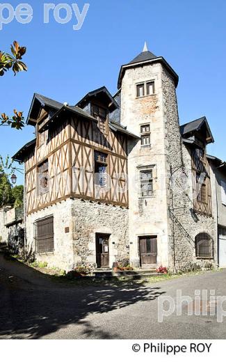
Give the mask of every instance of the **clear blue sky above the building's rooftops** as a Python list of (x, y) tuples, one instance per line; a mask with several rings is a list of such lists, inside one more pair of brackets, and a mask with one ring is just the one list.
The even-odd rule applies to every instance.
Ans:
[[(26, 2), (33, 8), (32, 22), (14, 20), (0, 31), (1, 50), (13, 40), (26, 45), (29, 67), (27, 73), (0, 79), (1, 112), (17, 108), (26, 116), (34, 92), (70, 104), (99, 86), (114, 93), (120, 65), (140, 53), (146, 40), (149, 50), (164, 56), (179, 74), (180, 123), (207, 116), (215, 139), (208, 152), (226, 159), (224, 0), (87, 0), (90, 8), (79, 31), (72, 29), (75, 15), (68, 24), (58, 24), (50, 13), (49, 24), (43, 24), (43, 4), (50, 1)], [(85, 2), (67, 4), (82, 9)], [(20, 1), (8, 3), (15, 8)], [(0, 132), (0, 154), (6, 156), (33, 139), (34, 129), (1, 127)]]

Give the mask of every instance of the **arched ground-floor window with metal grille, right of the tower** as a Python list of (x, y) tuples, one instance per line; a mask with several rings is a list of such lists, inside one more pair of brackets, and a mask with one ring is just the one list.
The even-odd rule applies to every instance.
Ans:
[(207, 233), (197, 234), (195, 237), (196, 258), (213, 258), (213, 239)]

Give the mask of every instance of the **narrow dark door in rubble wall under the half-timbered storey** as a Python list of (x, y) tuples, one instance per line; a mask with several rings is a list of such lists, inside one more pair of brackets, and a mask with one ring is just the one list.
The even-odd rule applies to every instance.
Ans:
[(96, 251), (97, 251), (97, 268), (109, 267), (109, 236), (97, 234)]

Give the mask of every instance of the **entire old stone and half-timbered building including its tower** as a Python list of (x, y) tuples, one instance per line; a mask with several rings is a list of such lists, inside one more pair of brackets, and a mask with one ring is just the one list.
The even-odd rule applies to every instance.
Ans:
[[(218, 264), (216, 173), (205, 117), (179, 127), (178, 76), (143, 49), (74, 106), (35, 93), (26, 172), (26, 245), (62, 269)], [(225, 211), (225, 210), (224, 210)], [(222, 210), (220, 210), (222, 213)]]

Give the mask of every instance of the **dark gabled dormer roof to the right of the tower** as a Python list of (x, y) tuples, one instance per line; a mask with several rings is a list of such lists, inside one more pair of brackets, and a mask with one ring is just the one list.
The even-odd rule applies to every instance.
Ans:
[(182, 137), (189, 136), (190, 134), (193, 134), (194, 132), (199, 132), (202, 127), (207, 128), (207, 143), (213, 143), (213, 135), (211, 133), (211, 129), (209, 127), (209, 124), (207, 122), (207, 118), (205, 116), (201, 118), (197, 118), (197, 120), (193, 120), (192, 122), (188, 122), (185, 125), (180, 126), (180, 132)]

